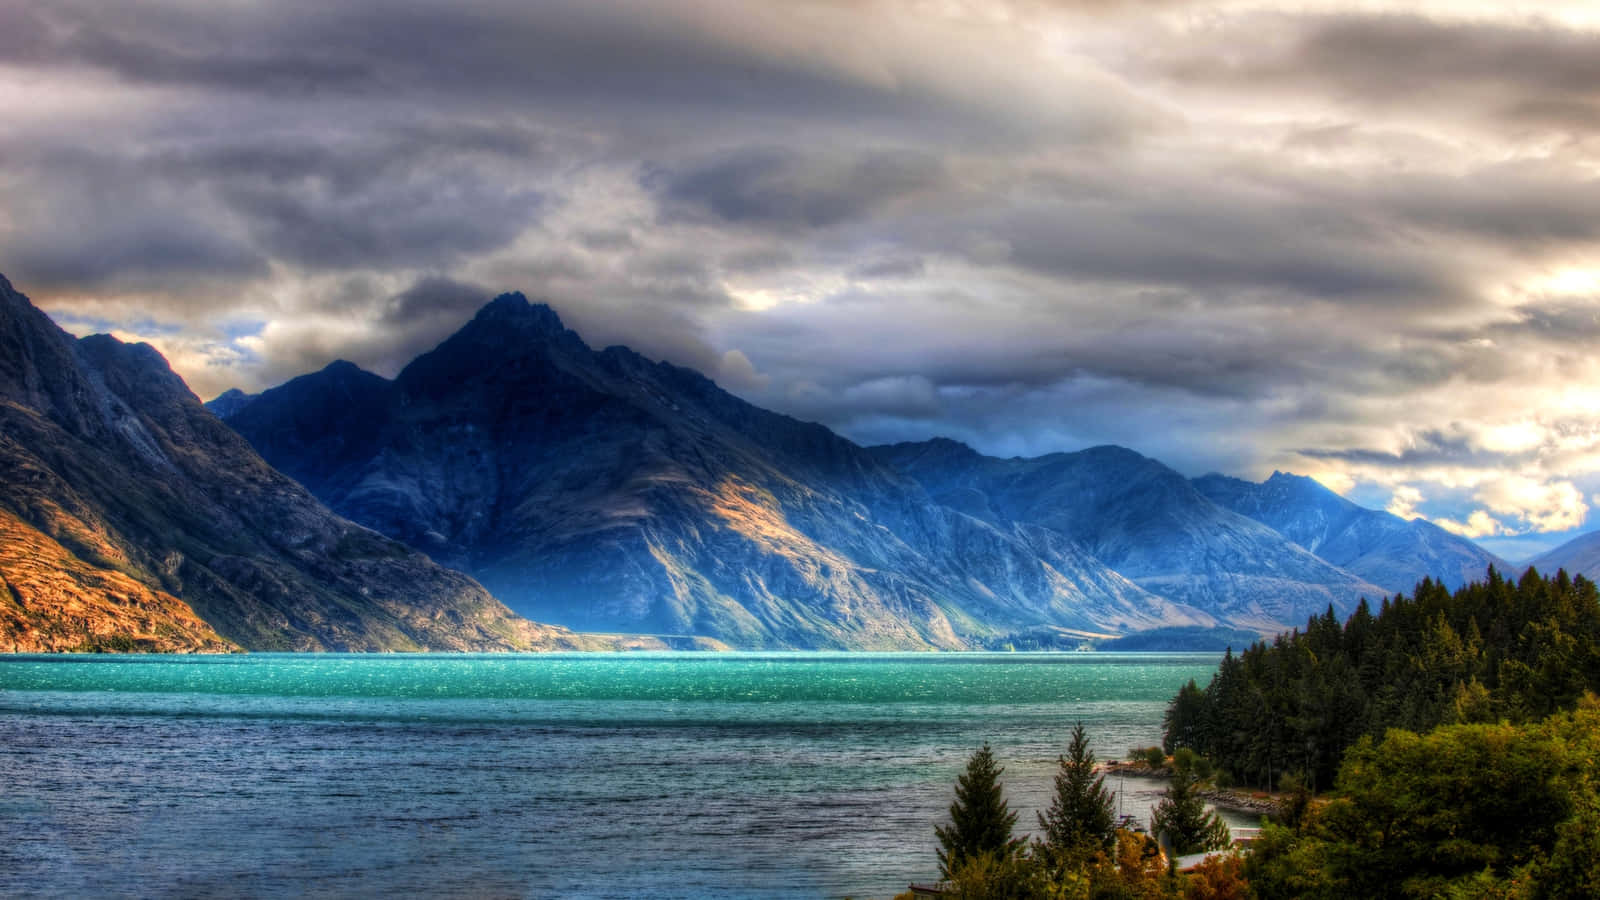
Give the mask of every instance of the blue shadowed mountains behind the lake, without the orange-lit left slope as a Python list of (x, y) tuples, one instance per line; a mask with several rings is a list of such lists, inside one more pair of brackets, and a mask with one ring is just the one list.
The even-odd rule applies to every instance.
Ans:
[[(211, 408), (341, 516), (584, 631), (854, 649), (1267, 633), (1499, 564), (1309, 479), (1189, 480), (1120, 447), (859, 447), (589, 348), (522, 295), (394, 380), (334, 362)], [(1318, 543), (1312, 522), (1341, 527)]]

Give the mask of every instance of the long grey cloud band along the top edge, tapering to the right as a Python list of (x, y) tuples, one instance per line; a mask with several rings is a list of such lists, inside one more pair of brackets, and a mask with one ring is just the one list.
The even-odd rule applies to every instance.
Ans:
[[(778, 109), (829, 122), (942, 120), (939, 128), (947, 131), (957, 120), (1010, 117), (1010, 109), (949, 96), (917, 72), (883, 83), (872, 66), (861, 72), (848, 58), (834, 59), (814, 46), (808, 53), (805, 42), (782, 38), (808, 19), (790, 21), (782, 6), (750, 13), (739, 5), (674, 0), (626, 6), (283, 0), (227, 10), (181, 0), (115, 6), (24, 0), (13, 10), (16, 27), (0, 53), (26, 66), (88, 67), (131, 83), (278, 99), (381, 102), (403, 93), (450, 96), (480, 110), (568, 112), (605, 102), (611, 109), (602, 119), (618, 109), (629, 109), (629, 117), (698, 109), (712, 117), (704, 122), (730, 110)], [(747, 19), (733, 27), (741, 16)], [(739, 40), (749, 35), (770, 40)], [(1091, 131), (1123, 127), (1104, 109), (1088, 119)]]

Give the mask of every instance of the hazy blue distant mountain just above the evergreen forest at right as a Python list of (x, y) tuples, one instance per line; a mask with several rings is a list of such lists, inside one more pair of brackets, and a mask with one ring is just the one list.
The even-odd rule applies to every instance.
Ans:
[(1194, 485), (1218, 504), (1274, 528), (1390, 594), (1408, 594), (1422, 578), (1454, 591), (1482, 581), (1490, 565), (1499, 572), (1517, 570), (1432, 522), (1406, 522), (1365, 509), (1304, 476), (1272, 472), (1270, 479), (1253, 484), (1213, 474), (1195, 479)]

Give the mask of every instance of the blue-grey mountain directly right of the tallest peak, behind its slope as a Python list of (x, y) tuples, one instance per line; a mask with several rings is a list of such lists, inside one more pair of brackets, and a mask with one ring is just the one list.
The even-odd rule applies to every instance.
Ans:
[(1278, 629), (1382, 589), (1205, 498), (1122, 447), (997, 460), (954, 440), (875, 447), (938, 503), (1061, 535), (1136, 585), (1232, 625)]

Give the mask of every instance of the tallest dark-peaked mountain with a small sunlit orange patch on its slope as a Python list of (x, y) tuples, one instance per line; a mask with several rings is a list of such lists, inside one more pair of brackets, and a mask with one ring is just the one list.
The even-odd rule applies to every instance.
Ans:
[(1069, 536), (930, 501), (822, 426), (496, 298), (394, 381), (334, 364), (229, 424), (338, 512), (525, 615), (741, 647), (1211, 625)]

